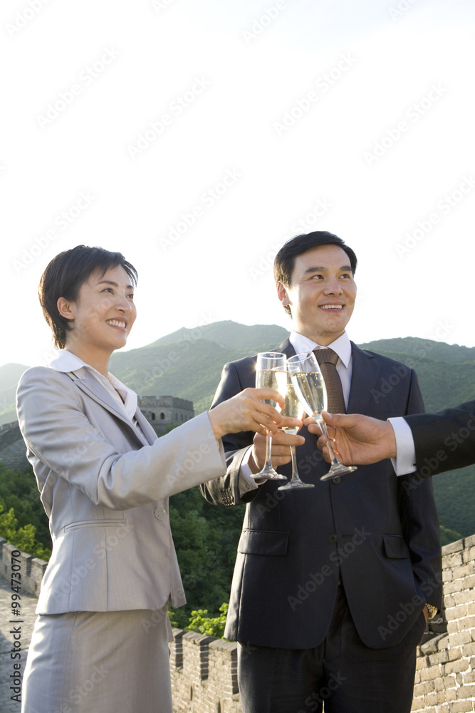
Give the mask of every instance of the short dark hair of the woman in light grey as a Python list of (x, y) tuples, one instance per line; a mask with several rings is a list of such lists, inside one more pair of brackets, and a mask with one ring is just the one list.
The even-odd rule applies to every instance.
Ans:
[(53, 332), (54, 346), (64, 349), (66, 332), (71, 330), (70, 320), (61, 317), (58, 312), (58, 299), (64, 297), (68, 302), (75, 302), (79, 297), (81, 285), (88, 281), (96, 270), (101, 275), (110, 268), (121, 266), (130, 277), (132, 285), (137, 284), (137, 270), (125, 260), (121, 252), (110, 252), (103, 247), (78, 245), (72, 250), (65, 250), (53, 257), (41, 275), (38, 297), (43, 314)]

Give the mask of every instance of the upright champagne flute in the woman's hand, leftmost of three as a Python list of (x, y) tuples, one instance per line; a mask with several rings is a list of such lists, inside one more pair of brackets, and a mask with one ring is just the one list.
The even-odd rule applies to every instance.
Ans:
[[(256, 387), (258, 389), (276, 389), (282, 396), (286, 394), (287, 388), (287, 357), (279, 352), (261, 352), (257, 355), (256, 362)], [(280, 411), (281, 406), (271, 399), (263, 399), (265, 404), (270, 404)], [(272, 467), (271, 447), (272, 434), (266, 429), (266, 463), (260, 473), (254, 473), (251, 478), (268, 478), (271, 481), (286, 481), (286, 476), (277, 473)]]

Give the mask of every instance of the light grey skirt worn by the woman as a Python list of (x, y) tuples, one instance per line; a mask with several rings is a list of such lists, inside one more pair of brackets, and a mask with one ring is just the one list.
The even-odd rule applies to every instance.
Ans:
[(172, 713), (167, 607), (39, 615), (22, 713)]

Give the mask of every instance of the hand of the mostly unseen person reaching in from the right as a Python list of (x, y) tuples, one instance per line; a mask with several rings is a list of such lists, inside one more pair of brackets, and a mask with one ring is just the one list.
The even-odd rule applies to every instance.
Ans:
[[(327, 414), (322, 412), (327, 424), (328, 436), (332, 441), (333, 451), (338, 453), (342, 463), (350, 465), (365, 465), (377, 463), (383, 458), (395, 458), (396, 438), (389, 421), (379, 421), (361, 414)], [(321, 434), (320, 428), (313, 419), (306, 419), (311, 434)], [(330, 463), (326, 436), (320, 436), (317, 446), (323, 451), (325, 461)]]

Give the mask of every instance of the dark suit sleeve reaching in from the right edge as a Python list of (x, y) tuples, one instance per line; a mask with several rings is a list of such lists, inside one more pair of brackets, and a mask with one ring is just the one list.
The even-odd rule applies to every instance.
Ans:
[(475, 463), (475, 401), (405, 420), (414, 436), (417, 471), (424, 478)]

